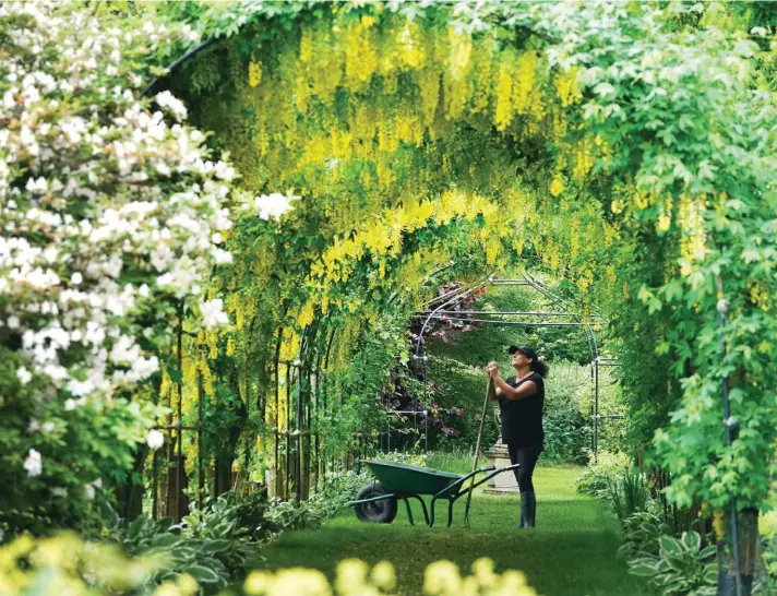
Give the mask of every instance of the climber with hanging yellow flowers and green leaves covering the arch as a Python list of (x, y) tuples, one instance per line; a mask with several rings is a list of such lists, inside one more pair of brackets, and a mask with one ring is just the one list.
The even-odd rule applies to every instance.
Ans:
[(238, 227), (235, 267), (214, 279), (238, 321), (216, 349), (237, 345), (241, 374), (268, 371), (272, 358), (249, 350), (291, 359), (306, 330), (357, 338), (409, 315), (451, 259), (465, 274), (534, 259), (613, 320), (635, 442), (672, 473), (669, 497), (707, 503), (721, 538), (730, 494), (768, 506), (767, 29), (751, 35), (731, 7), (685, 26), (643, 3), (249, 3), (188, 16), (241, 26), (171, 88), (247, 189), (301, 195), (274, 230)]

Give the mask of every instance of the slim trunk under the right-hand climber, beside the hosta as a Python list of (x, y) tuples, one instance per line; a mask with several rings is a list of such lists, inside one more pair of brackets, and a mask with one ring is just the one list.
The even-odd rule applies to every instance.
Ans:
[[(751, 596), (760, 557), (758, 510), (739, 512), (739, 569), (742, 591), (737, 593), (737, 561), (730, 526), (726, 537), (718, 541), (718, 596)], [(727, 525), (730, 520), (727, 516)]]

